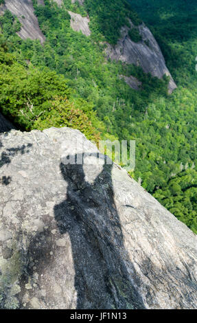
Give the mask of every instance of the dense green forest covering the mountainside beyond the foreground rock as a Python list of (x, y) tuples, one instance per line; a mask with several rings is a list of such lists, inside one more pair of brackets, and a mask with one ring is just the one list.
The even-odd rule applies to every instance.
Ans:
[[(0, 107), (20, 129), (71, 126), (89, 139), (136, 140), (131, 172), (170, 212), (197, 233), (197, 11), (186, 0), (45, 0), (34, 8), (39, 41), (22, 41), (21, 23), (0, 16)], [(91, 36), (74, 32), (67, 10), (90, 17)], [(106, 60), (120, 28), (142, 21), (150, 27), (178, 88), (140, 67)], [(133, 41), (140, 41), (132, 32)], [(135, 76), (141, 91), (119, 75)]]

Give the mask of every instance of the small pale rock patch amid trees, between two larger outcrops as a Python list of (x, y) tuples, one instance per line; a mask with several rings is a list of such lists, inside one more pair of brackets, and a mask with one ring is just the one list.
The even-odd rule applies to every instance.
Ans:
[(71, 28), (76, 32), (82, 32), (85, 36), (90, 36), (91, 31), (89, 29), (90, 19), (88, 16), (81, 16), (74, 12), (68, 11), (71, 16)]

